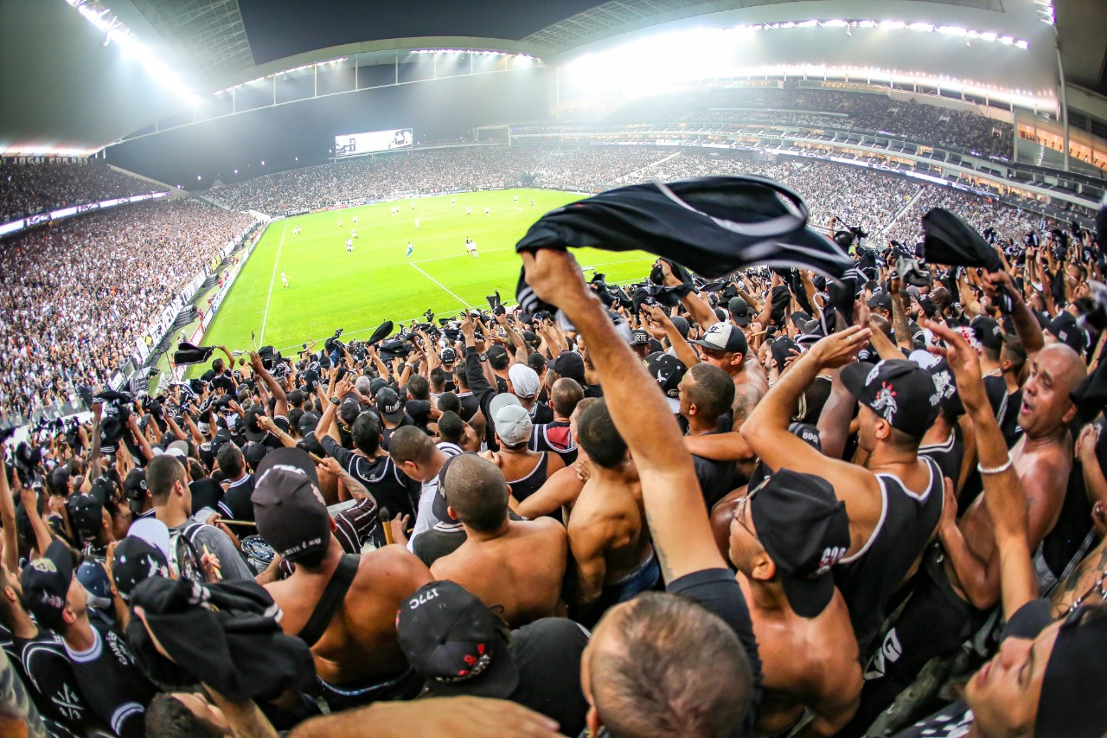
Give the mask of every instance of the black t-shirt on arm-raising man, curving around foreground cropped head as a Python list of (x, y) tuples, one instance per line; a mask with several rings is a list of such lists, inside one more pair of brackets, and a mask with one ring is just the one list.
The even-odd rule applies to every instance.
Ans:
[(761, 711), (762, 668), (761, 655), (757, 652), (757, 638), (754, 637), (754, 624), (749, 618), (749, 607), (742, 594), (742, 587), (734, 578), (734, 572), (728, 568), (705, 568), (702, 572), (685, 574), (665, 586), (670, 594), (683, 595), (700, 603), (708, 611), (718, 615), (738, 636), (742, 648), (749, 659), (752, 675), (749, 690), (749, 711), (736, 735), (753, 736), (757, 715)]

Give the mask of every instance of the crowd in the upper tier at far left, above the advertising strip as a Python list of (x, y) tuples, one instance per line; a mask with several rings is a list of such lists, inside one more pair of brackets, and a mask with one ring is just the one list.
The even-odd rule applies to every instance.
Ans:
[(0, 161), (0, 223), (68, 205), (154, 192), (145, 180), (102, 162), (17, 164)]

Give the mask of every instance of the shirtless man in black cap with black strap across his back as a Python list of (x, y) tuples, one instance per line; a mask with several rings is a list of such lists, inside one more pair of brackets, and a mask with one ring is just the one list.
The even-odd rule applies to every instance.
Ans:
[(296, 564), (292, 576), (266, 588), (284, 613), (284, 633), (311, 647), (331, 710), (418, 694), (423, 680), (396, 642), (396, 612), (432, 581), (423, 562), (399, 545), (343, 554), (315, 468), (299, 449), (266, 455), (251, 500), (258, 533)]

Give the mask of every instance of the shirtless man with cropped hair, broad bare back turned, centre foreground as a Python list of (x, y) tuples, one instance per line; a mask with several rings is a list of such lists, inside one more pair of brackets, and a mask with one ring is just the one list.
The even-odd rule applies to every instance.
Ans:
[(569, 540), (557, 521), (507, 517), (507, 482), (487, 459), (463, 453), (439, 476), (447, 512), (465, 527), (465, 543), (434, 562), (435, 580), (451, 580), (519, 627), (565, 615), (561, 581)]

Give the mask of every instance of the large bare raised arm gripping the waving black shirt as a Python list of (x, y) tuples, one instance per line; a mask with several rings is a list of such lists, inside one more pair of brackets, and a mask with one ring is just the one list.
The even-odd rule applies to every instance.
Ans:
[[(661, 388), (623, 341), (567, 252), (524, 253), (527, 284), (559, 306), (584, 336), (603, 382), (608, 411), (627, 442), (642, 483), (642, 501), (662, 575), (726, 566), (715, 547), (707, 510), (681, 431)], [(612, 381), (611, 378), (618, 378)]]

